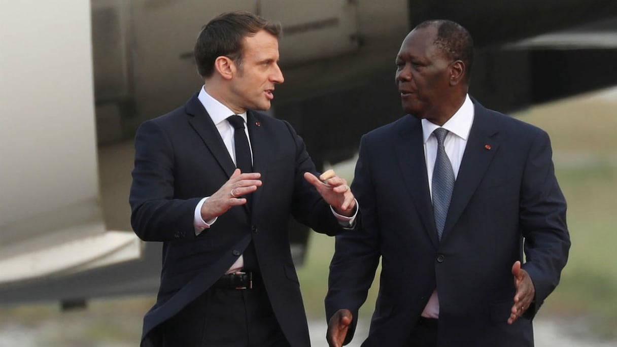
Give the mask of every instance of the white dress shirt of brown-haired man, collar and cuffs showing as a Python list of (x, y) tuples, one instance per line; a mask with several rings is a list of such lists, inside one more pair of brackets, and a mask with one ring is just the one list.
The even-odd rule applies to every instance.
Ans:
[[(197, 99), (199, 99), (201, 104), (204, 106), (205, 111), (207, 111), (208, 114), (210, 115), (212, 122), (214, 122), (214, 125), (216, 125), (218, 133), (220, 133), (221, 138), (223, 139), (223, 143), (225, 143), (225, 147), (227, 148), (227, 151), (229, 152), (231, 159), (235, 163), (236, 162), (236, 148), (235, 148), (236, 145), (234, 141), (235, 130), (234, 130), (234, 127), (231, 126), (227, 118), (236, 113), (231, 111), (229, 107), (223, 105), (217, 99), (212, 98), (210, 94), (206, 93), (205, 86), (202, 86), (201, 90), (199, 91), (199, 95), (197, 96)], [(238, 114), (238, 115), (242, 117), (242, 119), (244, 119), (244, 123), (246, 124), (246, 112)], [(251, 138), (249, 137), (248, 127), (246, 126), (244, 127), (244, 132), (246, 133), (247, 140), (249, 140), (249, 148), (251, 148), (251, 156), (252, 156), (253, 149), (251, 146)], [(197, 203), (197, 206), (195, 207), (194, 220), (193, 220), (193, 225), (195, 226), (195, 235), (201, 234), (204, 231), (204, 229), (210, 228), (210, 225), (212, 225), (214, 222), (217, 221), (216, 217), (211, 220), (204, 220), (201, 217), (201, 207), (204, 205), (205, 201), (208, 198), (210, 197), (206, 196), (205, 198), (201, 199), (199, 203)], [(356, 206), (357, 204), (358, 202), (356, 201)], [(330, 208), (332, 209), (332, 207)], [(336, 216), (336, 219), (339, 220), (339, 223), (341, 225), (343, 225), (344, 227), (352, 227), (352, 225), (354, 225), (357, 211), (359, 210), (360, 208), (358, 206), (356, 209), (356, 213), (352, 217), (347, 217), (345, 215), (337, 214), (336, 212), (334, 212), (334, 209), (332, 209), (332, 212)], [(234, 264), (231, 265), (230, 269), (226, 273), (231, 274), (232, 272), (241, 270), (242, 267), (244, 267), (244, 258), (240, 256), (238, 257), (236, 262), (234, 262)]]

